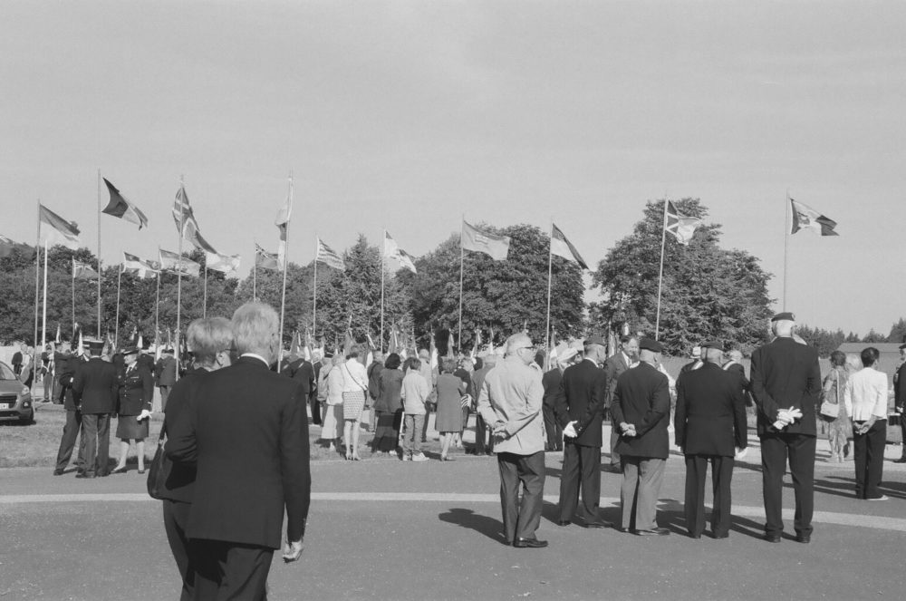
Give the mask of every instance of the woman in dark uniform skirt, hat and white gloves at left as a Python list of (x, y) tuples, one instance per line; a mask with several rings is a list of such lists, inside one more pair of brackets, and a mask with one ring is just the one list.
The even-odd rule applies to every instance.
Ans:
[(151, 400), (154, 398), (154, 378), (138, 362), (139, 349), (135, 346), (122, 352), (124, 369), (120, 374), (120, 402), (117, 408), (116, 437), (120, 439), (120, 460), (114, 474), (126, 473), (126, 457), (130, 442), (135, 441), (139, 456), (139, 473), (145, 473), (145, 439), (151, 417)]

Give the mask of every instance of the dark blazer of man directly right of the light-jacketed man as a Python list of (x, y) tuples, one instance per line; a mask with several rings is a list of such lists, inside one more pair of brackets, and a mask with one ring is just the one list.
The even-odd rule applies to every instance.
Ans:
[(584, 447), (600, 447), (604, 399), (607, 396), (607, 374), (593, 361), (583, 359), (564, 370), (563, 380), (554, 400), (554, 417), (565, 428), (577, 422), (579, 434), (569, 439)]

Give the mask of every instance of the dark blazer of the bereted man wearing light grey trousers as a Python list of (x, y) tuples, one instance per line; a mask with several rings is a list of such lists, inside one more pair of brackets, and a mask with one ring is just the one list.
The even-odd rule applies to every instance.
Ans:
[(644, 362), (622, 373), (613, 393), (611, 412), (614, 423), (631, 423), (637, 434), (621, 435), (615, 451), (629, 457), (667, 459), (670, 383), (666, 375)]

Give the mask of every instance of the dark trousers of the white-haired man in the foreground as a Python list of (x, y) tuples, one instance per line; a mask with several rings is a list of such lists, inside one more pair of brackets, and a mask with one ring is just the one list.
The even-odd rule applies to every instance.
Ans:
[(196, 558), (196, 599), (259, 601), (267, 598), (267, 574), (274, 549), (194, 538), (189, 554)]

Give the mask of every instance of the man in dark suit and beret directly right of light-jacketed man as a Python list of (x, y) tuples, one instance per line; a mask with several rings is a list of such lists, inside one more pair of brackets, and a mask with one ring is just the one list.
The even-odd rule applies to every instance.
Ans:
[(582, 489), (582, 517), (587, 528), (608, 528), (610, 522), (598, 515), (601, 503), (601, 444), (607, 374), (598, 367), (607, 354), (601, 336), (585, 340), (585, 358), (567, 367), (554, 399), (554, 414), (564, 429), (564, 465), (560, 476), (560, 516), (557, 523), (568, 526), (579, 505)]

